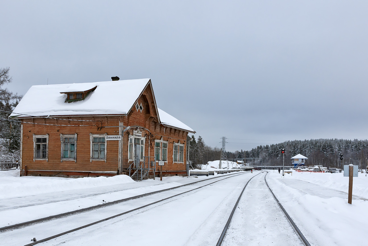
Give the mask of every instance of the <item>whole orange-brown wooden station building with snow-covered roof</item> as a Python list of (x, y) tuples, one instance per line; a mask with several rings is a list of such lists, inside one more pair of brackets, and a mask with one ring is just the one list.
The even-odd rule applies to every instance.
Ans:
[(10, 115), (22, 122), (21, 176), (132, 175), (141, 169), (146, 178), (158, 176), (159, 161), (164, 176), (187, 175), (187, 135), (195, 131), (157, 107), (150, 79), (112, 79), (28, 90)]

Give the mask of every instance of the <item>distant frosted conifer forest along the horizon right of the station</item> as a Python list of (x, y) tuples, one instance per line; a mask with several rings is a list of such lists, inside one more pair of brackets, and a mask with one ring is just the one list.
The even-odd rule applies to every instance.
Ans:
[[(192, 136), (194, 138), (194, 136)], [(189, 140), (190, 137), (188, 137)], [(282, 165), (282, 149), (285, 149), (285, 165), (291, 165), (291, 157), (302, 154), (308, 158), (306, 165), (323, 165), (331, 168), (341, 168), (344, 165), (354, 164), (360, 168), (366, 168), (368, 157), (368, 140), (347, 139), (311, 139), (292, 140), (279, 144), (259, 145), (250, 151), (227, 151), (229, 160), (235, 158), (261, 158), (263, 165)], [(206, 164), (208, 161), (220, 159), (221, 149), (213, 148), (204, 143), (201, 136), (190, 142), (190, 161), (192, 165)], [(343, 160), (340, 160), (343, 154)], [(261, 165), (261, 159), (253, 162), (253, 165)], [(248, 161), (249, 163), (251, 161)]]

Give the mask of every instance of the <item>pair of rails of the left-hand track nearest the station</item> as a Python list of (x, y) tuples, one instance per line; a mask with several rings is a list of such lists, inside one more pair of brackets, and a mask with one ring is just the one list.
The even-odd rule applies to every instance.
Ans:
[[(160, 202), (162, 202), (162, 201), (168, 200), (168, 199), (173, 198), (173, 197), (180, 196), (180, 195), (185, 194), (185, 193), (188, 193), (188, 192), (190, 192), (190, 191), (194, 191), (194, 190), (201, 189), (202, 187), (212, 185), (213, 183), (219, 182), (219, 181), (221, 181), (221, 180), (229, 179), (229, 178), (236, 177), (236, 176), (239, 176), (239, 175), (244, 175), (245, 173), (249, 173), (249, 172), (232, 173), (232, 174), (227, 175), (227, 176), (225, 176), (225, 177), (224, 177), (224, 176), (221, 176), (221, 177), (214, 177), (214, 178), (217, 178), (217, 179), (218, 179), (218, 178), (222, 178), (222, 179), (219, 179), (219, 180), (216, 180), (216, 181), (210, 182), (210, 183), (205, 184), (205, 185), (201, 185), (201, 186), (196, 187), (196, 188), (194, 188), (194, 189), (186, 190), (186, 191), (181, 192), (181, 193), (179, 193), (179, 194), (175, 194), (175, 195), (173, 195), (173, 196), (169, 196), (169, 197), (166, 197), (166, 198), (160, 199), (160, 200), (158, 200), (158, 201), (154, 201), (154, 202), (149, 203), (149, 204), (142, 205), (142, 206), (140, 206), (140, 207), (137, 207), (137, 208), (131, 209), (131, 210), (129, 210), (129, 211), (125, 211), (125, 212), (122, 212), (122, 213), (119, 213), (119, 214), (115, 214), (115, 215), (113, 215), (113, 216), (106, 217), (106, 218), (104, 218), (104, 219), (100, 219), (100, 220), (98, 220), (98, 221), (95, 221), (95, 222), (92, 222), (92, 223), (89, 223), (89, 224), (86, 224), (86, 225), (83, 225), (83, 226), (79, 226), (79, 227), (77, 227), (77, 228), (74, 228), (74, 229), (71, 229), (71, 230), (68, 230), (68, 231), (65, 231), (65, 232), (62, 232), (62, 233), (58, 233), (58, 234), (56, 234), (56, 235), (53, 235), (53, 236), (50, 236), (50, 237), (47, 237), (47, 238), (44, 238), (44, 239), (41, 239), (41, 240), (37, 240), (36, 242), (32, 242), (32, 243), (27, 244), (27, 246), (30, 246), (30, 245), (36, 245), (36, 244), (38, 244), (38, 243), (46, 242), (46, 241), (48, 241), (48, 240), (50, 240), (50, 239), (57, 238), (57, 237), (62, 236), (62, 235), (66, 235), (66, 234), (68, 234), (68, 233), (70, 233), (70, 232), (78, 231), (78, 230), (80, 230), (80, 229), (82, 229), (82, 228), (86, 228), (86, 227), (89, 227), (89, 226), (91, 226), (91, 225), (95, 225), (95, 224), (98, 224), (98, 223), (100, 223), (100, 222), (107, 221), (107, 220), (109, 220), (109, 219), (116, 218), (116, 217), (118, 217), (118, 216), (121, 216), (121, 215), (124, 215), (124, 214), (128, 214), (128, 213), (131, 213), (131, 212), (133, 212), (133, 211), (140, 210), (140, 209), (142, 209), (142, 208), (145, 208), (145, 207), (151, 206), (151, 205), (156, 204), (156, 203), (160, 203)], [(213, 179), (213, 178), (210, 178), (210, 179)], [(209, 180), (209, 179), (205, 179), (205, 180)], [(205, 181), (205, 180), (199, 180), (199, 181), (197, 181), (197, 182), (192, 182), (192, 183), (190, 183), (190, 184), (185, 184), (185, 185), (181, 185), (181, 186), (177, 186), (177, 187), (173, 187), (173, 188), (165, 189), (165, 190), (173, 190), (173, 189), (177, 189), (178, 187), (183, 187), (183, 186), (193, 185), (193, 184), (195, 184), (195, 183), (198, 183), (198, 182), (201, 182), (201, 181)], [(156, 193), (163, 192), (163, 191), (165, 191), (165, 190), (155, 191), (155, 192), (153, 192), (153, 193), (155, 193), (155, 194), (156, 194)], [(150, 194), (152, 194), (152, 193), (150, 193)], [(148, 195), (149, 195), (149, 193), (145, 194), (144, 196), (148, 196)], [(139, 196), (139, 197), (142, 197), (142, 196)], [(137, 198), (137, 197), (134, 197), (134, 198)], [(134, 199), (134, 198), (129, 198), (129, 200), (132, 200), (132, 199)], [(120, 202), (121, 202), (121, 201), (120, 201)], [(112, 202), (112, 203), (117, 204), (117, 201)], [(101, 205), (106, 205), (106, 204), (101, 204)], [(110, 204), (110, 205), (113, 205), (113, 204)], [(94, 208), (96, 208), (96, 207), (94, 206)], [(91, 210), (91, 209), (93, 209), (93, 208), (89, 208), (89, 209)], [(67, 214), (68, 214), (68, 215), (71, 215), (71, 214), (73, 214), (73, 213), (75, 213), (75, 212), (76, 212), (76, 211), (72, 211), (72, 212), (68, 212)], [(79, 211), (79, 210), (78, 210), (78, 211), (77, 211), (77, 213), (78, 213), (78, 212), (81, 212), (81, 211)], [(56, 217), (56, 216), (65, 217), (65, 216), (67, 216), (67, 215), (66, 215), (66, 214), (54, 215), (54, 216), (53, 216), (53, 218), (49, 218), (49, 217), (47, 217), (47, 218), (39, 219), (39, 220), (38, 220), (38, 222), (36, 222), (36, 221), (30, 221), (30, 222), (22, 223), (22, 225), (20, 225), (20, 224), (18, 224), (18, 225), (13, 225), (13, 229), (14, 229), (14, 228), (16, 228), (16, 227), (25, 227), (26, 225), (31, 225), (31, 224), (36, 224), (36, 223), (38, 224), (39, 222), (43, 222), (43, 221), (50, 220), (50, 219), (58, 219), (58, 217)], [(60, 217), (59, 217), (59, 218), (60, 218)], [(28, 224), (26, 224), (26, 223), (28, 223)], [(54, 222), (53, 222), (53, 223), (54, 223)], [(8, 230), (9, 230), (9, 228), (8, 228)], [(28, 229), (27, 229), (27, 230), (28, 230)], [(37, 227), (36, 227), (36, 228), (31, 227), (31, 230), (30, 230), (30, 231), (32, 231), (32, 230), (33, 230), (33, 231), (35, 231), (35, 230), (39, 230), (39, 229), (37, 229)], [(12, 233), (13, 233), (13, 232), (12, 232)], [(47, 235), (47, 234), (46, 234), (46, 235)]]

